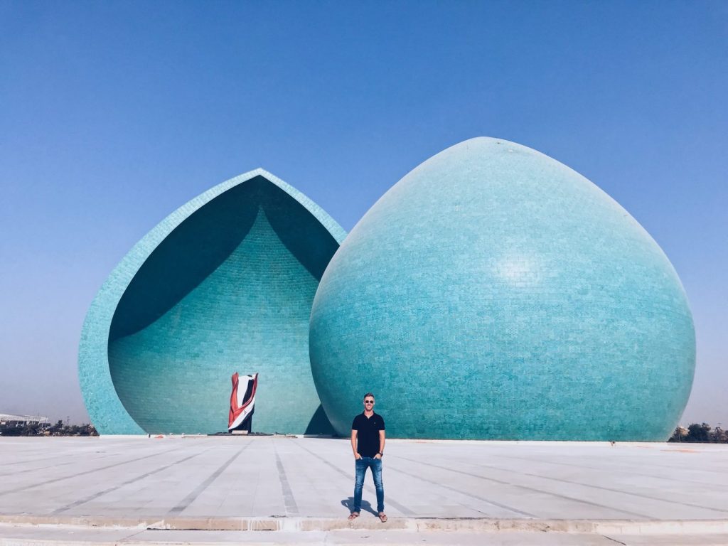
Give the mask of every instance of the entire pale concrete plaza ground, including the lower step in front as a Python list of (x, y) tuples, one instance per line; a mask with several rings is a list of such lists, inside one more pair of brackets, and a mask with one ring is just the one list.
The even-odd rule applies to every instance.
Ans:
[[(728, 542), (711, 542), (728, 536), (725, 445), (388, 440), (386, 524), (373, 514), (371, 475), (362, 516), (346, 521), (353, 470), (346, 439), (0, 438), (0, 544), (40, 544), (69, 529), (116, 533), (89, 540), (119, 544), (175, 542), (173, 533), (251, 544), (256, 536), (291, 543), (280, 542), (290, 533), (301, 544), (354, 544), (356, 533), (370, 545), (414, 544), (422, 533), (431, 543), (444, 534), (450, 545), (483, 533), (494, 544), (518, 534), (538, 544), (606, 543), (543, 542), (546, 534)], [(261, 535), (266, 529), (278, 532)], [(446, 531), (464, 531), (461, 542)], [(655, 542), (634, 542), (644, 537)]]

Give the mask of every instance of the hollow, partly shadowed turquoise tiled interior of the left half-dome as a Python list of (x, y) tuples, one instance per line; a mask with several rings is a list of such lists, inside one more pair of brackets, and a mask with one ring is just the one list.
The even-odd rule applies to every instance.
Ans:
[(146, 258), (111, 320), (108, 368), (132, 419), (150, 433), (226, 430), (230, 376), (258, 372), (253, 430), (331, 432), (308, 328), (337, 248), (262, 175), (191, 213)]

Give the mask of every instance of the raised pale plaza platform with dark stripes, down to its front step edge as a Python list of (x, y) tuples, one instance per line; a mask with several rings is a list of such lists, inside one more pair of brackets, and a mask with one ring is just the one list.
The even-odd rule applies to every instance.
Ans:
[[(336, 518), (353, 496), (346, 439), (0, 438), (0, 453), (0, 515)], [(393, 517), (728, 519), (728, 446), (388, 440), (385, 453)], [(363, 500), (376, 506), (370, 474)]]

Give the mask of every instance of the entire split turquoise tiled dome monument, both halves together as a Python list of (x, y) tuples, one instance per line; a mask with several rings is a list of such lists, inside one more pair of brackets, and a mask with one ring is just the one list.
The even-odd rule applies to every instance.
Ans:
[(347, 235), (264, 170), (151, 230), (92, 302), (79, 380), (102, 434), (349, 435), (365, 392), (398, 438), (665, 440), (695, 331), (657, 243), (593, 183), (475, 138), (428, 159)]

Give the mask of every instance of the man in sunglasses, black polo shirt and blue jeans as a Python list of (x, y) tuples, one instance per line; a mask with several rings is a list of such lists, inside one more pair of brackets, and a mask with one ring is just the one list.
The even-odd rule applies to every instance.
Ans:
[(384, 486), (381, 484), (381, 457), (384, 456), (384, 419), (374, 413), (374, 395), (364, 395), (364, 411), (352, 423), (352, 451), (356, 465), (354, 484), (354, 509), (349, 520), (359, 517), (362, 508), (362, 489), (366, 469), (371, 468), (376, 488), (376, 511), (382, 523), (387, 521), (384, 513)]

